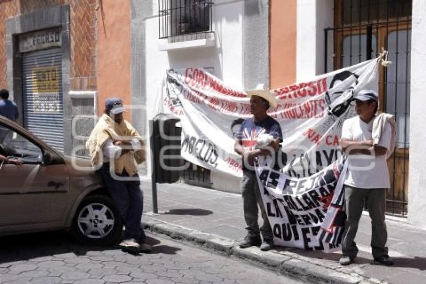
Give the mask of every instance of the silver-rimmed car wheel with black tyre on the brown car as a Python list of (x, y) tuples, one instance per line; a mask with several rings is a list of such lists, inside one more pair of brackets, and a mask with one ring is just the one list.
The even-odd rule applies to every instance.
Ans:
[(86, 197), (78, 207), (71, 227), (73, 235), (86, 244), (115, 243), (121, 236), (123, 222), (111, 198)]

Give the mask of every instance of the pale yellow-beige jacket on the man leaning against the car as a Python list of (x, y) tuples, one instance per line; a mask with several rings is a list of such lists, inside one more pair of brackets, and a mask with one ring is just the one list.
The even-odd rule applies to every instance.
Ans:
[[(86, 148), (89, 151), (92, 164), (98, 166), (103, 162), (102, 146), (107, 139), (111, 138), (113, 142), (117, 140), (131, 140), (132, 138), (138, 138), (141, 145), (143, 146), (143, 140), (139, 133), (133, 126), (123, 120), (120, 124), (117, 124), (107, 114), (103, 114), (95, 128), (90, 133), (89, 139), (86, 142)], [(114, 168), (116, 174), (121, 174), (123, 170), (130, 176), (135, 175), (137, 170), (137, 164), (145, 161), (145, 149), (136, 152), (127, 152), (121, 155), (118, 159), (114, 159)]]

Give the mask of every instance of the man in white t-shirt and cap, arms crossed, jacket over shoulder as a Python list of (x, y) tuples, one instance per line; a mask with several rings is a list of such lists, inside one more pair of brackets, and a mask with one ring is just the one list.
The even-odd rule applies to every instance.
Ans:
[(378, 107), (378, 96), (373, 90), (361, 90), (355, 97), (355, 117), (346, 119), (342, 126), (340, 146), (348, 157), (348, 171), (344, 182), (347, 220), (342, 238), (341, 265), (351, 264), (358, 248), (354, 242), (364, 202), (371, 218), (371, 250), (376, 264), (392, 265), (387, 254), (385, 224), (386, 189), (390, 187), (386, 154), (391, 151), (391, 126), (383, 125), (378, 143), (373, 143), (373, 121)]

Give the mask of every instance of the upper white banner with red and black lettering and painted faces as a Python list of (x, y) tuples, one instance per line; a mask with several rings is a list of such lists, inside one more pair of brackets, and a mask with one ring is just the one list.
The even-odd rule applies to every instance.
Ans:
[[(278, 105), (268, 114), (283, 130), (279, 161), (282, 173), (309, 177), (342, 156), (341, 126), (355, 115), (350, 100), (360, 89), (378, 90), (378, 62), (365, 61), (271, 90)], [(234, 152), (234, 135), (243, 119), (251, 117), (244, 91), (225, 85), (202, 69), (172, 69), (166, 73), (155, 105), (153, 113), (172, 113), (180, 118), (181, 156), (185, 160), (241, 177), (241, 157)]]

